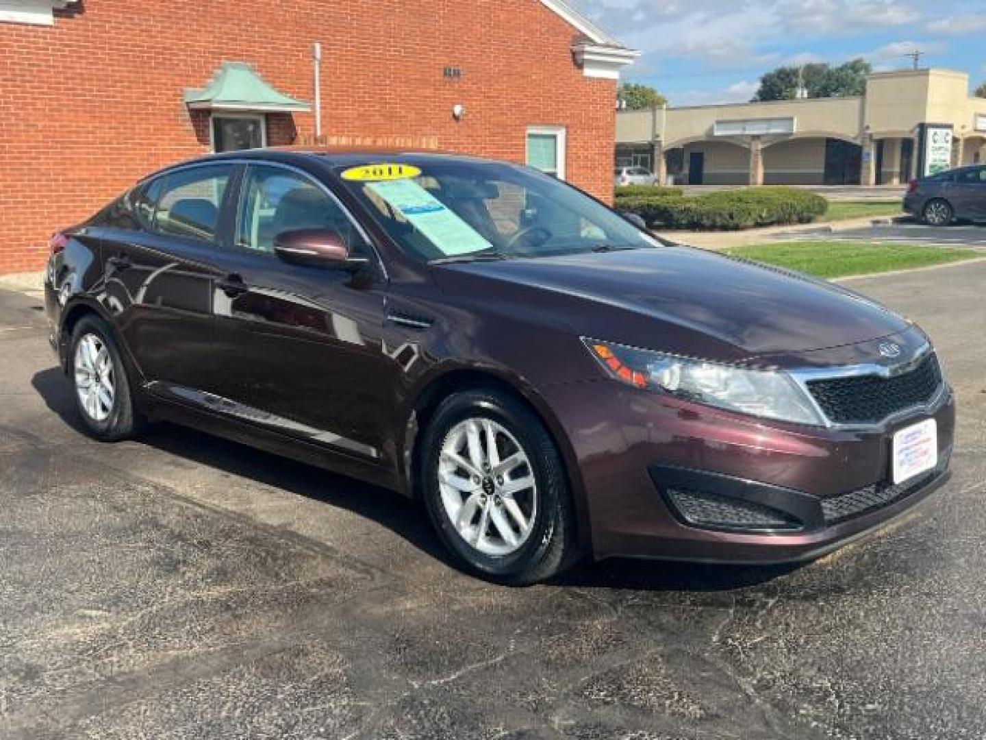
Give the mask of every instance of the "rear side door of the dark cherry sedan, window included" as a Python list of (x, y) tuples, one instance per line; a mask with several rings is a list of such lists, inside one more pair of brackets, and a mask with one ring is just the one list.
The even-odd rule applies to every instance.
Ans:
[(166, 173), (134, 193), (138, 230), (105, 230), (100, 300), (155, 390), (208, 390), (221, 224), (234, 168)]

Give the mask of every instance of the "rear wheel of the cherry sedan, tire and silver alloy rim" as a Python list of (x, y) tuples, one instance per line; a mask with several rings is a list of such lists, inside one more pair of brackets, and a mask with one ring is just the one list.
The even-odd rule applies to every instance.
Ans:
[(140, 431), (143, 419), (133, 404), (123, 358), (102, 319), (86, 316), (75, 325), (68, 371), (76, 407), (92, 436), (115, 442)]

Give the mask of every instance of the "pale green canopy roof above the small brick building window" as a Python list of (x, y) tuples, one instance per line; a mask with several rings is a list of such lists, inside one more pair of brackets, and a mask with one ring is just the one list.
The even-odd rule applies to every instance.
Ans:
[(279, 93), (246, 62), (223, 62), (202, 90), (185, 90), (188, 108), (212, 111), (311, 112), (312, 107)]

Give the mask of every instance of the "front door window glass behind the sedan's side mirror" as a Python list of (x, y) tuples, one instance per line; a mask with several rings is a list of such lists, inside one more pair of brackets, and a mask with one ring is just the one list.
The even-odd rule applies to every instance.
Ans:
[(274, 238), (294, 229), (331, 229), (354, 254), (362, 246), (342, 207), (313, 181), (278, 167), (249, 167), (242, 188), (236, 246), (273, 254)]

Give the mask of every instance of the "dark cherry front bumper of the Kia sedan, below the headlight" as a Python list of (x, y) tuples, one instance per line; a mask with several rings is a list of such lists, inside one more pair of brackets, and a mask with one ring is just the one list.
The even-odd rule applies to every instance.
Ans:
[[(924, 412), (860, 429), (765, 422), (613, 381), (558, 386), (549, 401), (569, 432), (598, 558), (811, 559), (892, 519), (949, 478), (951, 391)], [(892, 489), (885, 481), (893, 433), (929, 417), (938, 425), (942, 464)], [(782, 512), (787, 523), (689, 522), (669, 496), (673, 486), (750, 501), (760, 513)]]

